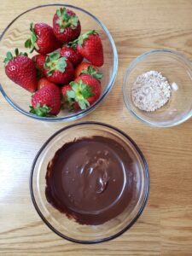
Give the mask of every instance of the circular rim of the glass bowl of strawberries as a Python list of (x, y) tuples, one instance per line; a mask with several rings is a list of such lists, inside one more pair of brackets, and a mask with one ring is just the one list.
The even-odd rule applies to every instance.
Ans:
[(118, 53), (117, 53), (117, 49), (116, 46), (114, 44), (113, 38), (110, 34), (110, 32), (108, 31), (108, 28), (102, 23), (102, 21), (100, 21), (98, 18), (96, 18), (95, 15), (92, 15), (89, 11), (79, 8), (77, 6), (68, 4), (68, 3), (48, 3), (48, 4), (42, 4), (42, 5), (38, 5), (36, 7), (33, 7), (32, 9), (27, 9), (26, 11), (22, 12), (20, 15), (16, 16), (14, 20), (12, 20), (8, 26), (6, 26), (6, 28), (3, 30), (2, 34), (0, 35), (0, 42), (3, 40), (3, 35), (5, 34), (5, 32), (8, 31), (9, 27), (14, 24), (15, 20), (18, 20), (20, 18), (20, 16), (25, 15), (26, 13), (35, 10), (35, 9), (40, 9), (40, 8), (44, 8), (44, 7), (50, 7), (50, 6), (64, 6), (67, 8), (73, 8), (73, 9), (77, 9), (81, 12), (83, 12), (86, 15), (90, 15), (91, 18), (93, 18), (93, 20), (96, 21), (96, 23), (98, 25), (100, 25), (102, 27), (102, 30), (105, 32), (105, 34), (108, 36), (108, 39), (112, 45), (112, 49), (113, 49), (113, 72), (112, 75), (110, 77), (110, 80), (108, 82), (108, 84), (106, 85), (106, 89), (103, 91), (102, 96), (100, 96), (100, 98), (93, 104), (90, 106), (90, 108), (84, 109), (82, 111), (79, 111), (79, 113), (74, 113), (70, 116), (58, 116), (58, 117), (38, 117), (35, 114), (26, 112), (26, 110), (20, 108), (20, 106), (18, 104), (16, 104), (14, 101), (11, 100), (11, 98), (6, 94), (6, 92), (3, 90), (3, 85), (0, 83), (0, 91), (3, 95), (3, 97), (6, 99), (7, 102), (9, 102), (9, 104), (15, 108), (17, 111), (19, 111), (20, 113), (25, 114), (26, 116), (32, 118), (32, 119), (38, 119), (38, 120), (42, 120), (42, 121), (49, 121), (49, 122), (59, 122), (59, 121), (71, 121), (71, 120), (75, 120), (75, 119), (80, 119), (82, 117), (84, 117), (85, 115), (87, 115), (88, 113), (92, 112), (95, 108), (97, 108), (102, 100), (108, 96), (109, 91), (112, 89), (114, 81), (116, 79), (117, 73), (118, 73)]

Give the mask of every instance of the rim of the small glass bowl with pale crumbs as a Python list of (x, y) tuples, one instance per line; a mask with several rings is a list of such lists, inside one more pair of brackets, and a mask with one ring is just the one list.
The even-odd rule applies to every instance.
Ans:
[[(143, 61), (148, 55), (153, 55), (156, 53), (168, 53), (174, 56), (177, 56), (177, 58), (179, 58), (181, 61), (183, 61), (185, 64), (187, 64), (187, 66), (191, 67), (192, 65), (192, 61), (189, 61), (188, 58), (186, 58), (184, 55), (178, 53), (176, 50), (172, 50), (172, 49), (151, 49), (148, 50), (147, 52), (144, 52), (142, 55), (138, 55), (133, 61), (131, 61), (131, 64), (129, 65), (129, 67), (126, 68), (125, 70), (125, 75), (124, 75), (124, 79), (123, 79), (123, 86), (122, 86), (122, 90), (123, 90), (123, 97), (124, 97), (124, 102), (125, 102), (125, 107), (131, 112), (131, 114), (136, 117), (138, 120), (142, 121), (144, 124), (153, 126), (153, 127), (158, 127), (158, 128), (164, 128), (164, 127), (172, 127), (175, 125), (180, 125), (183, 122), (185, 122), (186, 120), (188, 120), (189, 118), (192, 117), (192, 109), (189, 111), (189, 113), (184, 116), (182, 119), (172, 122), (172, 124), (154, 124), (154, 122), (152, 121), (148, 121), (147, 119), (142, 118), (139, 114), (137, 114), (133, 108), (131, 108), (131, 103), (130, 100), (128, 99), (128, 97), (126, 96), (125, 90), (126, 90), (126, 80), (128, 78), (128, 76), (131, 73), (131, 70), (137, 66), (137, 64), (140, 61)], [(192, 71), (190, 72), (190, 78), (192, 78)]]

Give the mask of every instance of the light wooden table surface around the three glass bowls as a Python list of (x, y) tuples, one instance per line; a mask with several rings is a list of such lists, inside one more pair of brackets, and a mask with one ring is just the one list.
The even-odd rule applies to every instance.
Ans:
[[(46, 3), (54, 1), (46, 1)], [(57, 3), (58, 1), (55, 1)], [(44, 0), (1, 0), (0, 32)], [(172, 128), (143, 125), (126, 111), (125, 68), (155, 48), (177, 49), (192, 60), (191, 0), (71, 0), (108, 27), (119, 52), (113, 90), (85, 120), (117, 126), (143, 150), (150, 172), (147, 207), (137, 224), (113, 241), (79, 245), (56, 236), (32, 206), (28, 180), (44, 141), (69, 123), (26, 118), (0, 96), (0, 255), (192, 255), (192, 119)]]

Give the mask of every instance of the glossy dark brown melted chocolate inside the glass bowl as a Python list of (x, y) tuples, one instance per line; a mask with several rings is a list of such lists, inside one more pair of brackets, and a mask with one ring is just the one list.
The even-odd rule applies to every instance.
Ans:
[(49, 203), (79, 224), (103, 224), (129, 205), (133, 159), (108, 137), (83, 137), (64, 144), (49, 161), (45, 194)]

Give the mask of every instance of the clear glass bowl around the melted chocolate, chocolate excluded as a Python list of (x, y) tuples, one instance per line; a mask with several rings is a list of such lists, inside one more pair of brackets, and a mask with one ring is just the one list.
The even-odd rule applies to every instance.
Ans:
[[(102, 136), (112, 138), (120, 143), (125, 150), (129, 150), (131, 158), (134, 159), (133, 174), (129, 178), (136, 188), (131, 202), (124, 212), (116, 218), (99, 225), (79, 224), (73, 219), (67, 218), (64, 213), (59, 212), (52, 207), (45, 196), (45, 175), (49, 160), (54, 157), (57, 151), (64, 143), (73, 141), (80, 137)], [(44, 223), (55, 232), (55, 234), (69, 240), (79, 243), (96, 243), (108, 241), (121, 235), (128, 230), (137, 218), (143, 212), (143, 208), (148, 199), (148, 166), (141, 150), (133, 142), (131, 137), (123, 131), (119, 131), (111, 125), (96, 122), (83, 122), (69, 125), (55, 132), (49, 137), (44, 146), (40, 148), (33, 164), (30, 177), (30, 191), (32, 202), (39, 216)]]

